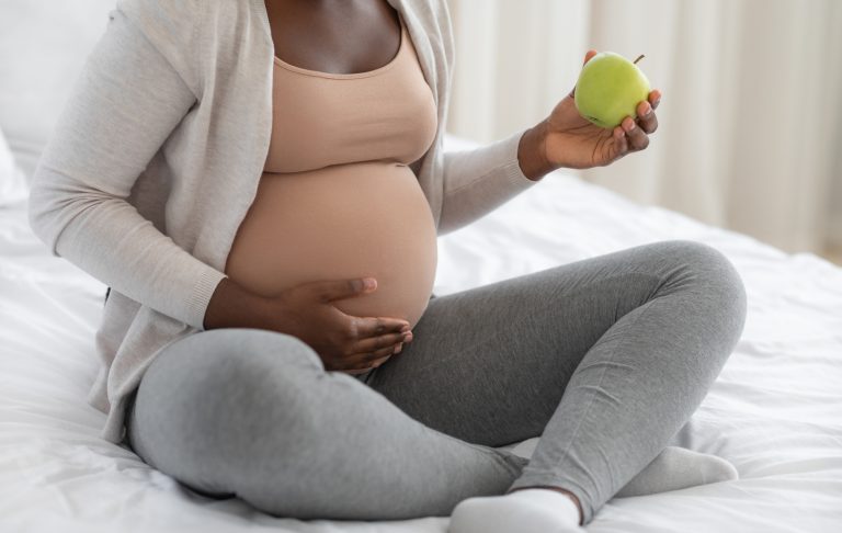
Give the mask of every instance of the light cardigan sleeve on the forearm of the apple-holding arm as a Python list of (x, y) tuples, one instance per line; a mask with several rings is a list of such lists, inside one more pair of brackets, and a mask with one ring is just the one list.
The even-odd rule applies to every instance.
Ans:
[(439, 235), (467, 226), (537, 183), (526, 178), (517, 160), (524, 133), (473, 150), (444, 152)]

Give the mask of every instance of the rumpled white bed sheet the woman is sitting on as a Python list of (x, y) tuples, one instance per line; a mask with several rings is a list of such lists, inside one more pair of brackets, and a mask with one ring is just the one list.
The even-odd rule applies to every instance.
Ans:
[[(454, 137), (447, 143), (470, 146)], [(842, 269), (554, 172), (441, 237), (434, 292), (667, 239), (716, 247), (746, 282), (742, 339), (674, 441), (731, 461), (741, 478), (613, 499), (588, 531), (842, 532)], [(48, 256), (26, 224), (25, 204), (0, 208), (1, 532), (446, 531), (442, 517), (271, 517), (239, 499), (196, 495), (101, 440), (105, 416), (84, 398), (96, 372), (93, 336), (104, 291)], [(535, 442), (515, 452), (528, 456)]]

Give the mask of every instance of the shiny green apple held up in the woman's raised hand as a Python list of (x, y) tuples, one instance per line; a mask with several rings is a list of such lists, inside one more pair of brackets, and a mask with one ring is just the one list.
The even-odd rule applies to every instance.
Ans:
[(637, 104), (649, 98), (649, 80), (619, 54), (601, 52), (584, 64), (576, 82), (576, 109), (600, 127), (618, 126), (623, 118), (637, 118)]

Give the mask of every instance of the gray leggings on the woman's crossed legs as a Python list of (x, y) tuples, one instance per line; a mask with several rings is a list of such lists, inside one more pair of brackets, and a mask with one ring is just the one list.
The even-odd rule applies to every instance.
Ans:
[[(434, 297), (414, 340), (364, 376), (326, 372), (288, 334), (201, 331), (147, 370), (127, 444), (276, 517), (447, 517), (551, 485), (588, 523), (687, 422), (746, 306), (722, 253), (670, 240)], [(494, 450), (538, 435), (532, 460)]]

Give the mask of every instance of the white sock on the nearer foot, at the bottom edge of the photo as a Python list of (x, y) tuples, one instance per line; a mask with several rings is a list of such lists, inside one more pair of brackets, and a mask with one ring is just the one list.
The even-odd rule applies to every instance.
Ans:
[(453, 509), (448, 533), (582, 533), (579, 508), (551, 489), (527, 488), (476, 496)]

